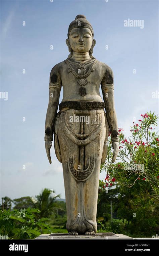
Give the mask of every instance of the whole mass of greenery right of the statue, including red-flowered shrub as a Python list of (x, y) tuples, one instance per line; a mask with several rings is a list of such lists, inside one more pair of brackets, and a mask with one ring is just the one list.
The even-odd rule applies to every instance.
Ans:
[[(128, 139), (123, 129), (119, 129), (120, 146), (115, 164), (111, 163), (111, 141), (108, 145), (107, 161), (101, 165), (101, 171), (107, 174), (99, 187), (101, 191), (108, 189), (109, 195), (110, 187), (115, 185), (117, 202), (113, 202), (113, 211), (123, 225), (118, 226), (117, 220), (110, 219), (102, 223), (112, 232), (123, 229), (122, 233), (132, 237), (152, 237), (159, 228), (159, 138), (153, 128), (158, 117), (151, 112), (141, 116), (139, 123), (131, 127)], [(116, 231), (113, 223), (117, 225)]]

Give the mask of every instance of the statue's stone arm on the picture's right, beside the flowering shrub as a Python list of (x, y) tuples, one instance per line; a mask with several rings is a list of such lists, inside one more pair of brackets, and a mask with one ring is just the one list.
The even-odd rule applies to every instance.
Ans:
[(107, 66), (105, 75), (101, 82), (103, 99), (105, 102), (106, 116), (110, 128), (111, 141), (113, 146), (112, 163), (115, 162), (119, 151), (119, 138), (118, 138), (118, 123), (114, 105), (114, 82), (113, 72)]

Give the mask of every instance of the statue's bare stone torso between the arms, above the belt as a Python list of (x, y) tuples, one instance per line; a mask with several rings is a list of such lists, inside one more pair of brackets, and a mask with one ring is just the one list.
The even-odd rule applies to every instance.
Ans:
[[(102, 101), (99, 88), (106, 72), (106, 64), (91, 59), (83, 68), (70, 60), (58, 64), (58, 72), (63, 86), (63, 99)], [(80, 74), (81, 73), (81, 74)]]

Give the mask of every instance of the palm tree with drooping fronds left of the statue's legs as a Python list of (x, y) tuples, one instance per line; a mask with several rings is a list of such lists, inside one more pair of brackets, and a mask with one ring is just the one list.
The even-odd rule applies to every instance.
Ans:
[(52, 214), (54, 208), (54, 202), (56, 198), (60, 198), (60, 195), (53, 196), (54, 190), (50, 190), (48, 188), (44, 188), (40, 195), (36, 196), (37, 203), (36, 207), (41, 211), (41, 217), (49, 217)]

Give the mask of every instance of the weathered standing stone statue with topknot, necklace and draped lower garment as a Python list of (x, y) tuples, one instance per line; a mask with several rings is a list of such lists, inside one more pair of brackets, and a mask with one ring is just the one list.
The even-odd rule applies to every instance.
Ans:
[[(54, 133), (56, 157), (63, 167), (66, 228), (70, 235), (96, 233), (100, 165), (107, 157), (109, 132), (114, 150), (112, 162), (119, 148), (113, 72), (92, 55), (96, 43), (93, 37), (86, 17), (77, 15), (66, 39), (70, 54), (50, 73), (45, 148), (51, 164)], [(59, 104), (61, 86), (63, 99)]]

